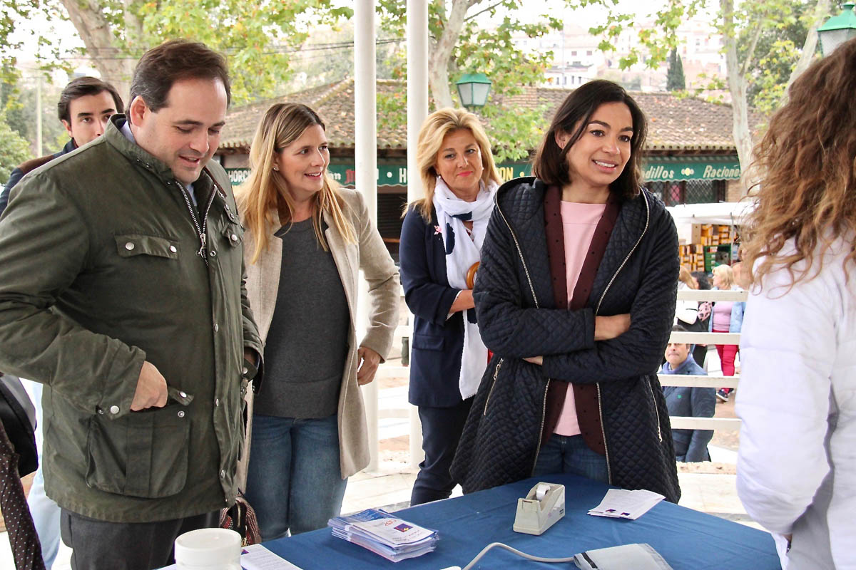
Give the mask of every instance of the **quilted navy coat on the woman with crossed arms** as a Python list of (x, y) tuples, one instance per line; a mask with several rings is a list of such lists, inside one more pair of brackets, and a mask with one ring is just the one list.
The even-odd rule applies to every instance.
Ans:
[[(623, 201), (584, 309), (556, 309), (544, 234), (543, 182), (496, 194), (473, 296), (494, 357), (461, 436), (452, 475), (464, 492), (532, 476), (551, 379), (596, 384), (609, 482), (681, 497), (657, 369), (675, 315), (678, 238), (648, 191)], [(594, 341), (596, 315), (631, 314), (618, 338)], [(522, 360), (544, 356), (544, 365)]]

